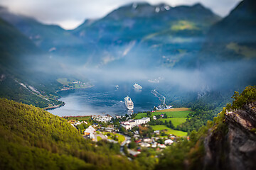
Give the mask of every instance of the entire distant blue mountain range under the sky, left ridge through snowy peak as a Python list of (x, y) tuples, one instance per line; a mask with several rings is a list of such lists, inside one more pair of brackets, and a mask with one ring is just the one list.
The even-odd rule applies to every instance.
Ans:
[(121, 6), (70, 31), (4, 7), (0, 17), (56, 60), (75, 67), (188, 65), (201, 49), (208, 28), (220, 20), (201, 4), (171, 7), (147, 3)]

